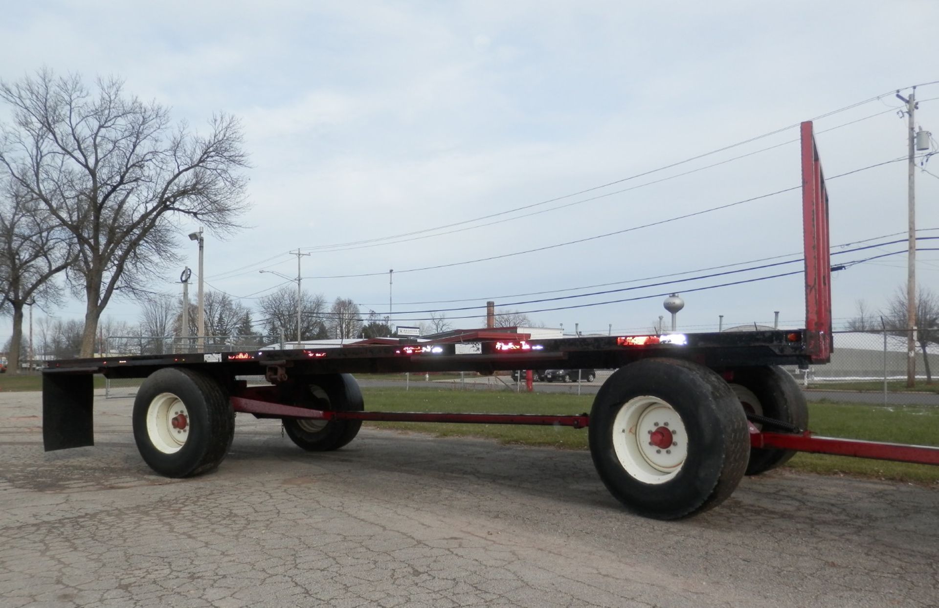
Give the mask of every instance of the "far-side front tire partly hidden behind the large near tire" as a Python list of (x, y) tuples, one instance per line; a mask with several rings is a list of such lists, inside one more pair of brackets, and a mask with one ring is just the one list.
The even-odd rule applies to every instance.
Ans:
[[(733, 370), (731, 383), (749, 389), (760, 400), (762, 416), (789, 422), (800, 429), (808, 427), (806, 395), (789, 372), (775, 365), (739, 368)], [(751, 448), (747, 475), (774, 469), (794, 455), (791, 449)]]

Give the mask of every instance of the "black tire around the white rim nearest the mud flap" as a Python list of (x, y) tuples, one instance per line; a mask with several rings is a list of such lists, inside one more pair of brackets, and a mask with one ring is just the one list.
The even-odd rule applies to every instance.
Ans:
[[(146, 417), (154, 399), (175, 395), (189, 413), (189, 435), (177, 451), (156, 447), (147, 433)], [(202, 475), (222, 463), (235, 436), (235, 412), (223, 386), (212, 377), (183, 368), (163, 368), (140, 385), (133, 402), (133, 438), (144, 462), (164, 477)]]

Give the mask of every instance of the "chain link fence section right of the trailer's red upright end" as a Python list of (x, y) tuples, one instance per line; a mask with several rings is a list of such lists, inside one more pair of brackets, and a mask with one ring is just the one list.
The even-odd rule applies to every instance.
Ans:
[(939, 405), (939, 344), (916, 342), (912, 387), (907, 386), (906, 332), (836, 331), (834, 345), (829, 363), (790, 370), (807, 389), (809, 400)]

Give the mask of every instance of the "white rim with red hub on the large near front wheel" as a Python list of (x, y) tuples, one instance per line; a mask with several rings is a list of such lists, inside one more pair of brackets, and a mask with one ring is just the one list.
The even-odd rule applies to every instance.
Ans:
[(665, 483), (685, 464), (688, 433), (669, 403), (657, 397), (634, 397), (613, 419), (613, 450), (633, 478)]

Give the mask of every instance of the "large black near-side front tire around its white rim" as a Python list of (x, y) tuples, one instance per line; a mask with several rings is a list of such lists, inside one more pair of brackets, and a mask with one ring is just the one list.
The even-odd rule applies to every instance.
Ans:
[[(613, 444), (613, 422), (636, 397), (668, 403), (688, 436), (685, 462), (669, 480), (630, 475)], [(590, 416), (590, 450), (600, 479), (623, 505), (655, 519), (678, 519), (712, 509), (740, 483), (747, 468), (747, 417), (731, 387), (697, 363), (648, 358), (613, 372), (597, 392)]]

